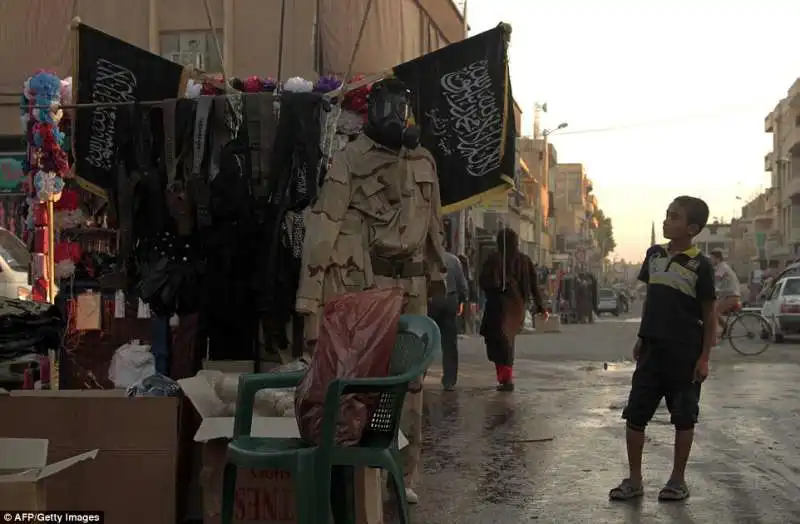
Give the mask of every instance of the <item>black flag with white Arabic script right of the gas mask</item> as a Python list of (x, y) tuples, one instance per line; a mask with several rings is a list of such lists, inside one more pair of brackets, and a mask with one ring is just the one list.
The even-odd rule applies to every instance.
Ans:
[(508, 31), (500, 25), (394, 68), (412, 92), (421, 143), (436, 158), (445, 212), (513, 184)]

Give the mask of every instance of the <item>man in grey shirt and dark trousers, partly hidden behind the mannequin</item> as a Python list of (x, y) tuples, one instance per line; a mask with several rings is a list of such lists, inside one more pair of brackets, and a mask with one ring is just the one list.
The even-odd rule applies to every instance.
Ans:
[(442, 332), (442, 388), (455, 390), (458, 380), (458, 314), (467, 301), (469, 289), (461, 261), (445, 252), (447, 266), (447, 294), (431, 300), (428, 315), (436, 321)]

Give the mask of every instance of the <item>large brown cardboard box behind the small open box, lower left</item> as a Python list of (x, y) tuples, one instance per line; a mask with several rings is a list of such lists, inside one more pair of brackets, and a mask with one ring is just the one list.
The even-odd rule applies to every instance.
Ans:
[(105, 511), (114, 524), (173, 523), (179, 398), (121, 390), (12, 391), (0, 396), (0, 437), (49, 441), (51, 462), (100, 450), (45, 479), (51, 511)]

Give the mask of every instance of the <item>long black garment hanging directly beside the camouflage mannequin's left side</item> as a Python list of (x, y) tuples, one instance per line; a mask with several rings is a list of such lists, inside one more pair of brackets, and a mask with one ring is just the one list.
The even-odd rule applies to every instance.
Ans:
[(259, 311), (269, 319), (267, 329), (281, 348), (288, 344), (286, 325), (292, 319), (300, 279), (303, 211), (313, 204), (319, 190), (323, 110), (330, 110), (330, 105), (318, 94), (281, 94), (261, 231), (259, 267), (263, 269), (256, 274), (255, 284)]

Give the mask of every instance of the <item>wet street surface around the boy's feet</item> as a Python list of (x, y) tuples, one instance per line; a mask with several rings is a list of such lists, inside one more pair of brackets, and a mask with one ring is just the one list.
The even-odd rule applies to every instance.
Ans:
[(457, 391), (441, 391), (438, 365), (426, 381), (425, 468), (413, 521), (800, 523), (800, 345), (791, 343), (758, 357), (723, 345), (712, 356), (688, 501), (656, 500), (672, 464), (663, 406), (648, 430), (644, 499), (608, 500), (627, 475), (620, 415), (637, 329), (636, 318), (603, 317), (521, 335), (514, 393), (494, 390), (482, 339), (460, 339)]

